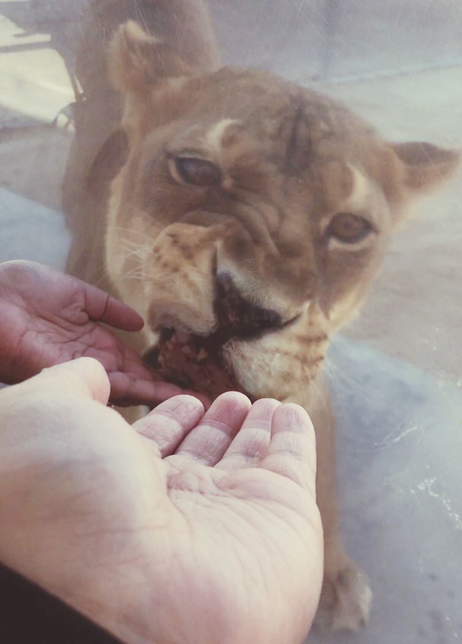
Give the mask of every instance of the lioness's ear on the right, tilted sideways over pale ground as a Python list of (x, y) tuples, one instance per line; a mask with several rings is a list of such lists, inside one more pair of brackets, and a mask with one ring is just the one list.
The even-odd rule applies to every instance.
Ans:
[(459, 151), (430, 143), (397, 143), (391, 147), (401, 162), (401, 185), (407, 192), (425, 193), (442, 184), (460, 160)]

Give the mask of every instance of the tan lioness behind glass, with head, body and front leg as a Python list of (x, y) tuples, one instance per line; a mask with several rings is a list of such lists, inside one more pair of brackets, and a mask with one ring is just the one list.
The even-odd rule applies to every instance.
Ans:
[[(110, 32), (109, 3), (94, 4), (95, 24), (108, 21)], [(199, 0), (144, 4), (152, 33), (120, 24), (108, 48), (111, 82), (124, 97), (120, 123), (117, 104), (105, 121), (95, 98), (102, 72), (87, 96), (99, 111), (84, 125), (93, 127), (93, 147), (115, 133), (99, 154), (91, 142), (90, 151), (78, 140), (73, 148), (64, 191), (75, 231), (69, 269), (107, 279), (144, 316), (140, 352), (159, 337), (162, 351), (165, 330), (189, 348), (213, 337), (215, 366), (251, 397), (308, 410), (325, 532), (318, 623), (357, 629), (371, 591), (339, 534), (323, 360), (331, 334), (358, 312), (405, 207), (450, 174), (457, 153), (389, 144), (312, 90), (265, 71), (220, 68)], [(91, 55), (81, 52), (81, 62)]]

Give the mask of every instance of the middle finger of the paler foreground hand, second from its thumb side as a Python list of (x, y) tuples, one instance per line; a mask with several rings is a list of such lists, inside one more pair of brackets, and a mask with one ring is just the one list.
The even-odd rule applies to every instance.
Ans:
[(175, 459), (182, 457), (215, 465), (240, 430), (250, 408), (251, 403), (243, 393), (222, 393), (182, 440), (175, 451)]

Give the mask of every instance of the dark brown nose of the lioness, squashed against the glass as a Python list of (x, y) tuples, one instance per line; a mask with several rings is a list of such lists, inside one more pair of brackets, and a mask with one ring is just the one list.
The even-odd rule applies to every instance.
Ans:
[(228, 272), (217, 274), (216, 307), (218, 328), (229, 336), (253, 337), (265, 330), (282, 327), (280, 314), (244, 298)]

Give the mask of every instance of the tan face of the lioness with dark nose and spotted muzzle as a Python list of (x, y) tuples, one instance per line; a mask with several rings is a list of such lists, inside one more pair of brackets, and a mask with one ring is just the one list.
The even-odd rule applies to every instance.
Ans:
[(162, 328), (219, 334), (246, 392), (291, 397), (358, 310), (410, 194), (455, 155), (391, 146), (262, 71), (136, 76), (142, 37), (125, 26), (113, 46), (130, 154), (111, 196), (111, 279), (146, 343)]

